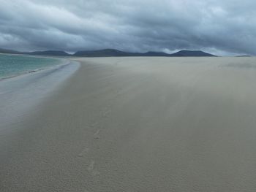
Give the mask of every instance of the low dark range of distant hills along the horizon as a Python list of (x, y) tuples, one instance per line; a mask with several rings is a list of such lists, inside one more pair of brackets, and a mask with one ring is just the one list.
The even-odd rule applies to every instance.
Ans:
[(69, 54), (61, 50), (45, 50), (45, 51), (34, 51), (34, 52), (19, 52), (16, 50), (5, 50), (0, 49), (0, 53), (9, 54), (26, 54), (26, 55), (48, 55), (48, 56), (75, 56), (75, 57), (216, 57), (210, 53), (203, 52), (201, 50), (181, 50), (177, 53), (164, 53), (164, 52), (153, 52), (148, 51), (146, 53), (130, 53), (121, 50), (104, 49), (104, 50), (81, 50), (74, 54)]

